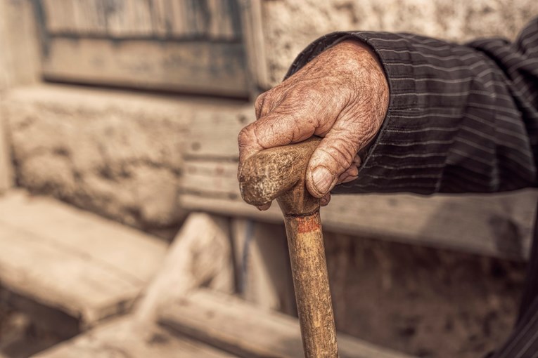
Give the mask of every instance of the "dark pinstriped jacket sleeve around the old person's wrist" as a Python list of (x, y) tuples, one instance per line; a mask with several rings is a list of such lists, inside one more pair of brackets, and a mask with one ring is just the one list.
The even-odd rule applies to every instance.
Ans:
[(390, 86), (387, 117), (354, 192), (499, 192), (537, 186), (538, 18), (517, 41), (451, 44), (414, 34), (335, 32), (287, 76), (344, 39), (369, 44)]

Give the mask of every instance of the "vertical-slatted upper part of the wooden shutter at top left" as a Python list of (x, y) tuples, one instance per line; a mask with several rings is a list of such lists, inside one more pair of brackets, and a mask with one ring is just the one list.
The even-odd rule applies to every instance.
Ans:
[(41, 0), (49, 34), (241, 38), (236, 0)]

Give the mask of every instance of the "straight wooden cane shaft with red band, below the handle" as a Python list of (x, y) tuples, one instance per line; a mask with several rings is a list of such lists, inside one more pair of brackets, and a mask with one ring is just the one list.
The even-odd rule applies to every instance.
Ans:
[(284, 221), (305, 357), (338, 357), (319, 211)]

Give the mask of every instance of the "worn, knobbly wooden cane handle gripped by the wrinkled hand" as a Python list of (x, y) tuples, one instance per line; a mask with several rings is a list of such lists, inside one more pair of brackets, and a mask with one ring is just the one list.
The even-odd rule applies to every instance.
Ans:
[[(241, 196), (262, 206), (278, 198), (285, 215), (311, 213), (319, 199), (305, 190), (307, 164), (321, 138), (262, 150), (248, 158), (238, 173)], [(295, 190), (294, 190), (295, 189)]]

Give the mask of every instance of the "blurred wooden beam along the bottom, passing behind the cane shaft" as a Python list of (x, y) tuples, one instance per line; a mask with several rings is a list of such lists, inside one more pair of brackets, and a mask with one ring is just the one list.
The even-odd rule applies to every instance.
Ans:
[[(160, 312), (160, 324), (240, 357), (302, 357), (297, 319), (233, 296), (199, 290)], [(342, 358), (410, 358), (338, 334)]]

